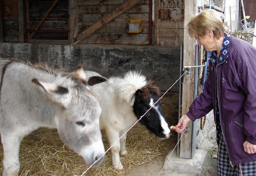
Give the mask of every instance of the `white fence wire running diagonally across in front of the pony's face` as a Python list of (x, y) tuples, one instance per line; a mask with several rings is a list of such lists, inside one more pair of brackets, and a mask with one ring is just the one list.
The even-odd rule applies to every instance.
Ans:
[[(186, 72), (188, 72), (188, 70), (186, 70)], [(186, 73), (186, 72), (184, 72), (183, 74), (182, 74), (182, 76), (184, 76), (184, 74)], [(182, 76), (180, 76), (180, 78), (182, 78)], [(178, 79), (178, 80), (180, 80), (180, 78)], [(145, 114), (147, 114), (148, 113), (148, 111), (150, 111), (150, 109), (161, 99), (161, 98), (163, 98), (163, 96), (178, 82), (178, 80), (176, 80), (175, 82), (174, 82), (174, 84), (172, 84), (172, 86), (170, 87), (170, 88), (168, 88), (168, 90), (166, 90), (166, 92), (164, 92), (164, 94), (145, 112)], [(104, 153), (104, 154), (102, 154), (102, 156), (100, 156), (100, 158), (98, 158), (98, 160), (96, 160), (89, 168), (87, 168), (86, 169), (86, 171), (84, 171), (83, 173), (82, 173), (82, 175), (81, 176), (84, 176), (84, 174), (90, 169), (90, 168), (92, 168), (92, 166), (96, 163), (96, 162), (98, 162), (102, 157), (104, 157), (105, 156), (105, 154), (125, 135), (125, 134), (127, 134), (128, 133), (128, 131), (130, 130), (130, 129), (132, 129), (139, 121), (140, 121), (140, 119), (142, 119), (142, 117), (144, 117), (145, 116), (145, 114), (143, 114), (143, 116), (140, 116), (140, 118), (139, 118), (139, 120), (137, 120), (118, 140), (116, 140), (116, 142), (114, 143), (114, 144), (112, 144), (111, 146), (110, 146), (110, 148), (108, 148), (108, 150), (106, 150), (106, 152)], [(183, 133), (184, 134), (184, 133)], [(182, 135), (183, 135), (182, 134)], [(76, 176), (76, 175), (74, 175), (74, 176)]]

